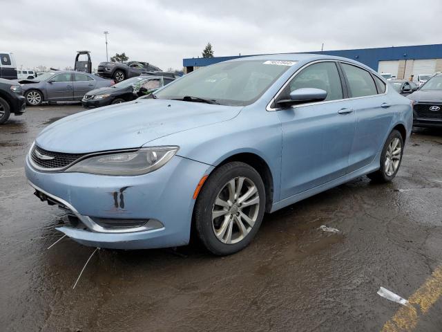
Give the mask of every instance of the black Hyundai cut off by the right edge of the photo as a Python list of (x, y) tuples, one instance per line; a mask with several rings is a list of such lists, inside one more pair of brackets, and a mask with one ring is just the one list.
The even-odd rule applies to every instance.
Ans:
[(432, 76), (407, 98), (414, 100), (414, 127), (442, 127), (442, 73)]

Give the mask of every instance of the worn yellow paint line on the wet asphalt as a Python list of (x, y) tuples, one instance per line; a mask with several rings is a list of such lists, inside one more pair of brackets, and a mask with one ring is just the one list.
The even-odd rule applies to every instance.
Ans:
[(432, 275), (408, 299), (408, 306), (401, 306), (391, 320), (385, 323), (381, 332), (413, 331), (419, 318), (442, 296), (442, 266), (434, 270)]

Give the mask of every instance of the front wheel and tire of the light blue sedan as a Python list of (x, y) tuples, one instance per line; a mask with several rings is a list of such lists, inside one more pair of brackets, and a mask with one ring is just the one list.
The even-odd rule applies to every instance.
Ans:
[(245, 163), (222, 165), (204, 183), (195, 203), (198, 238), (215, 255), (231, 255), (249, 245), (265, 212), (260, 174)]

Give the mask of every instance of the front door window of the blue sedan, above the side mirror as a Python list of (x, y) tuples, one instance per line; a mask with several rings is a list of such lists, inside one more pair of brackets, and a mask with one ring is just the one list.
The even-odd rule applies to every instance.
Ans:
[[(288, 85), (285, 91), (287, 99), (291, 91), (301, 88), (316, 88), (327, 91), (325, 100), (343, 99), (343, 88), (340, 84), (338, 68), (334, 62), (320, 62), (302, 69)], [(287, 88), (286, 88), (287, 89)]]

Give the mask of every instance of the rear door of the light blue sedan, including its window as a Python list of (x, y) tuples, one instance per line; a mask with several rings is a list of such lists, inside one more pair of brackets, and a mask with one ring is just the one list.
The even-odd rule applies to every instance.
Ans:
[(347, 82), (352, 109), (356, 112), (356, 131), (349, 156), (348, 172), (374, 160), (383, 147), (392, 123), (395, 106), (391, 104), (385, 83), (365, 68), (340, 63)]

